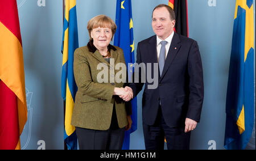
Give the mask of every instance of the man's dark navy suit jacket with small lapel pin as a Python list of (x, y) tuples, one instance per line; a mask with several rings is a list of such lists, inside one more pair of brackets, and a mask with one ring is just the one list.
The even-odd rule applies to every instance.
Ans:
[[(137, 63), (158, 63), (156, 35), (138, 43)], [(156, 71), (151, 70), (151, 75), (153, 72)], [(147, 80), (146, 83), (129, 84), (135, 96), (145, 84), (142, 98), (144, 123), (154, 124), (159, 104), (164, 120), (170, 127), (185, 126), (187, 117), (200, 121), (204, 83), (199, 46), (195, 40), (174, 33), (162, 77), (158, 75), (158, 83), (156, 89), (148, 89), (150, 83)]]

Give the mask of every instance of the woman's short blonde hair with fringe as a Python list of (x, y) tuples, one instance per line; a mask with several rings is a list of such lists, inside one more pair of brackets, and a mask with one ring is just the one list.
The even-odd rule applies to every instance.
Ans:
[(98, 27), (110, 28), (112, 31), (112, 39), (113, 39), (115, 30), (117, 29), (117, 25), (114, 23), (114, 21), (111, 18), (109, 18), (106, 15), (98, 15), (89, 20), (87, 24), (87, 29), (89, 32), (90, 40), (92, 40), (92, 36), (90, 35), (90, 32), (92, 31), (93, 28), (98, 28)]

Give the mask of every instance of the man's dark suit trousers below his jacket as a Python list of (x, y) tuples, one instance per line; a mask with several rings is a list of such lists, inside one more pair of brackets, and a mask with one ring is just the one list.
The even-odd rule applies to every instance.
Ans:
[[(185, 123), (184, 123), (185, 124)], [(191, 132), (185, 133), (184, 127), (169, 127), (164, 121), (161, 107), (155, 124), (150, 126), (143, 122), (143, 133), (146, 150), (163, 150), (166, 137), (168, 150), (188, 150)]]

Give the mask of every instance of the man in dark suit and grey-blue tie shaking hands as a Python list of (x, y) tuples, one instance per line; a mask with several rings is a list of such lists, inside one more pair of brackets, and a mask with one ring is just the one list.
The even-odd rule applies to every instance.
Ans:
[(158, 63), (159, 70), (147, 69), (147, 65), (143, 69), (146, 78), (159, 71), (158, 87), (148, 88), (152, 83), (147, 81), (126, 87), (136, 96), (145, 84), (142, 117), (146, 149), (164, 149), (164, 137), (168, 149), (189, 149), (191, 130), (200, 121), (204, 83), (199, 46), (175, 33), (174, 26), (174, 10), (156, 6), (152, 12), (156, 35), (138, 43), (137, 63)]

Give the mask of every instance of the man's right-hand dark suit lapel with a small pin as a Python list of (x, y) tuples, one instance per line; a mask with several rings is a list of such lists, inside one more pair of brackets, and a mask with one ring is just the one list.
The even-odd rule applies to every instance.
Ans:
[(163, 79), (164, 74), (166, 74), (168, 67), (171, 65), (177, 52), (179, 51), (180, 46), (181, 46), (181, 43), (180, 43), (179, 35), (177, 35), (177, 33), (174, 33), (174, 37), (172, 37), (172, 42), (167, 54), (166, 62), (164, 63), (163, 73), (162, 73), (162, 77), (160, 78), (160, 81)]

